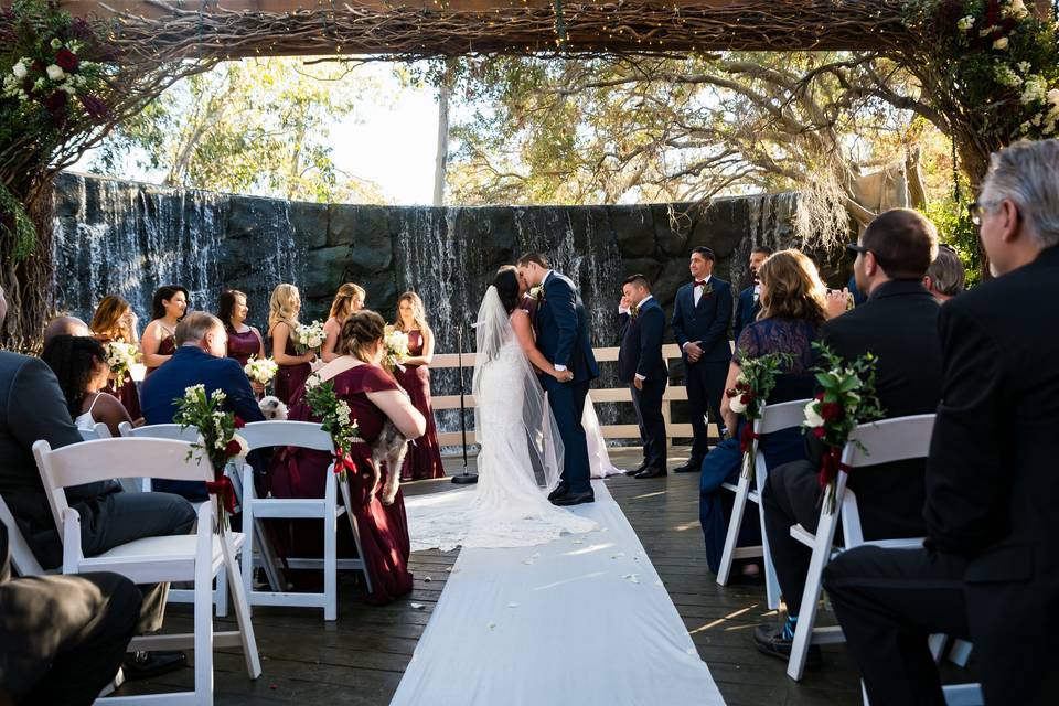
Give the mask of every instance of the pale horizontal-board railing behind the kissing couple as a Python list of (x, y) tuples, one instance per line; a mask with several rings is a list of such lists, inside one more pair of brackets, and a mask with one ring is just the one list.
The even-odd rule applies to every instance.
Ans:
[[(595, 349), (596, 361), (599, 363), (610, 363), (618, 360), (618, 349)], [(675, 343), (662, 346), (662, 356), (666, 360), (674, 360), (681, 357), (681, 350)], [(438, 353), (434, 356), (434, 363), (430, 364), (431, 368), (441, 370), (441, 368), (456, 368), (459, 366), (460, 356), (456, 353)], [(463, 354), (463, 367), (474, 367), (474, 354), (464, 353)], [(468, 375), (468, 385), (470, 385), (470, 376)], [(632, 391), (628, 387), (601, 387), (592, 388), (589, 395), (592, 398), (592, 402), (597, 405), (599, 404), (614, 404), (614, 403), (629, 403), (632, 404)], [(692, 437), (692, 425), (688, 424), (674, 424), (672, 416), (672, 405), (674, 402), (682, 402), (687, 399), (687, 388), (684, 386), (674, 386), (670, 385), (665, 388), (665, 394), (662, 396), (662, 416), (665, 418), (665, 435), (670, 439), (674, 437), (681, 438), (691, 438)], [(460, 408), (460, 396), (459, 395), (438, 395), (432, 399), (435, 410), (440, 409), (459, 409)], [(467, 394), (463, 396), (463, 405), (467, 409), (474, 409), (474, 396)], [(605, 425), (602, 427), (603, 438), (607, 439), (639, 439), (640, 438), (640, 428), (634, 424), (612, 424)], [(709, 425), (710, 436), (717, 436), (716, 425)], [(469, 427), (467, 430), (467, 438), (469, 443), (474, 441), (474, 429)], [(459, 431), (448, 431), (445, 434), (438, 435), (438, 441), (441, 446), (460, 446), (463, 443), (462, 435)]]

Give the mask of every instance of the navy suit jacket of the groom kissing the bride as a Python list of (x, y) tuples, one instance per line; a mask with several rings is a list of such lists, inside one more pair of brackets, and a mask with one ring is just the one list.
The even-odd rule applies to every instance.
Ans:
[(599, 377), (588, 335), (581, 295), (568, 278), (553, 271), (544, 281), (544, 302), (537, 308), (537, 347), (553, 365), (565, 365), (574, 382)]

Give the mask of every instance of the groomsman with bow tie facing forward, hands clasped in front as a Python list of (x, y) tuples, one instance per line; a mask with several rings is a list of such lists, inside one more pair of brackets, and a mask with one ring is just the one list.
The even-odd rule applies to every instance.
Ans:
[(676, 291), (673, 306), (673, 336), (684, 359), (684, 384), (692, 411), (692, 456), (676, 473), (698, 471), (709, 451), (706, 414), (713, 414), (718, 427), (720, 396), (725, 394), (731, 346), (731, 286), (714, 277), (714, 252), (708, 247), (692, 250), (689, 269), (694, 281)]

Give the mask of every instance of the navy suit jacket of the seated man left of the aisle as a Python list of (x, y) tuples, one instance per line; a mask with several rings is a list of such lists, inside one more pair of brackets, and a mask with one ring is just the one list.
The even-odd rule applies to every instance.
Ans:
[[(265, 420), (238, 361), (214, 357), (200, 347), (182, 345), (140, 386), (140, 407), (147, 424), (172, 424), (176, 415), (176, 399), (183, 397), (184, 389), (192, 385), (204, 385), (207, 395), (215, 389), (223, 391), (226, 395), (224, 409), (234, 411), (244, 421)], [(188, 500), (206, 499), (205, 485), (199, 481), (157, 480), (153, 488), (183, 495)]]

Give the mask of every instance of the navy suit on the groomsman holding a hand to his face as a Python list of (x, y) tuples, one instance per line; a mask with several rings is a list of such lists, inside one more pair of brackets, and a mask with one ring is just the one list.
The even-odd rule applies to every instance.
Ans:
[[(665, 312), (653, 297), (640, 304), (635, 317), (620, 314), (623, 333), (618, 351), (618, 379), (632, 391), (632, 405), (640, 425), (643, 443), (643, 463), (648, 468), (665, 470), (665, 419), (662, 417), (662, 395), (668, 382), (668, 371), (662, 359), (662, 334)], [(633, 383), (643, 377), (641, 389)]]

